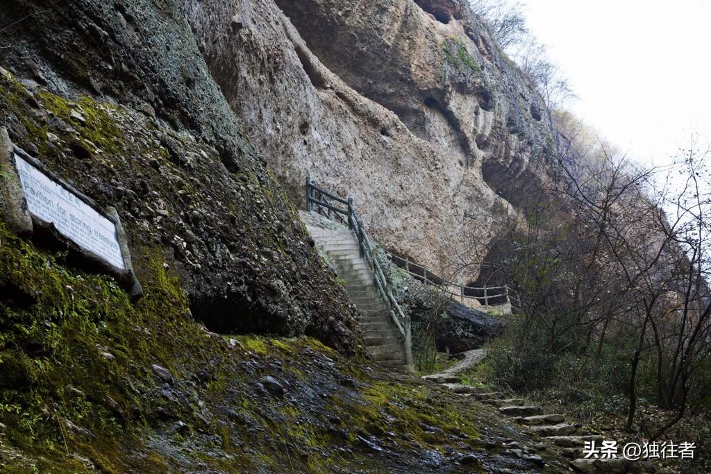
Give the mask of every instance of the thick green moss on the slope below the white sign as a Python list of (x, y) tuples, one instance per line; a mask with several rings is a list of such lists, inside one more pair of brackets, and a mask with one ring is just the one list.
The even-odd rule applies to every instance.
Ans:
[[(127, 380), (141, 383), (137, 370), (148, 376), (151, 363), (170, 367), (176, 351), (200, 353), (204, 343), (197, 328), (183, 327), (188, 302), (176, 276), (151, 259), (146, 297), (133, 306), (111, 278), (66, 269), (61, 254), (38, 252), (2, 222), (0, 242), (0, 422), (9, 427), (7, 440), (43, 458), (63, 459), (70, 448), (95, 456), (86, 436), (69, 428), (81, 426), (95, 437), (92, 451), (116, 451), (132, 439), (131, 421), (140, 425), (149, 416), (142, 409), (154, 403)], [(137, 338), (145, 328), (154, 328), (151, 335)], [(109, 398), (124, 407), (125, 419), (107, 408)], [(112, 472), (109, 460), (95, 462)], [(74, 472), (66, 463), (47, 472)]]

